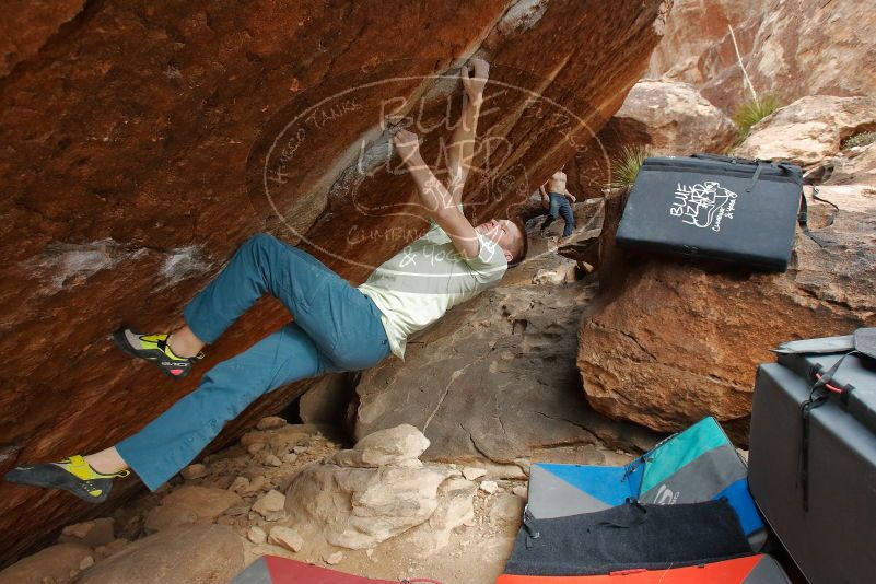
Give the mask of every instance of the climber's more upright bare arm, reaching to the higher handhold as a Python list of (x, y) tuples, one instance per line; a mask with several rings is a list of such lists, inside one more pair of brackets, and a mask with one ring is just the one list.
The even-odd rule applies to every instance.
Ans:
[(478, 117), (483, 105), (483, 87), (490, 74), (490, 66), (483, 59), (470, 59), (459, 70), (463, 80), (463, 113), (453, 131), (447, 153), (449, 171), (448, 190), (454, 203), (463, 202), (463, 187), (471, 170), (477, 140)]

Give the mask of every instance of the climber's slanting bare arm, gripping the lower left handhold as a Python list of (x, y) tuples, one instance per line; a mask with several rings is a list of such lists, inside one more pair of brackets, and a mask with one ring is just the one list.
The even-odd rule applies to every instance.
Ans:
[(466, 215), (459, 211), (447, 188), (423, 161), (417, 135), (399, 130), (393, 137), (393, 142), (413, 182), (417, 183), (420, 202), (425, 212), (444, 230), (457, 252), (466, 258), (477, 256), (480, 250), (477, 232)]

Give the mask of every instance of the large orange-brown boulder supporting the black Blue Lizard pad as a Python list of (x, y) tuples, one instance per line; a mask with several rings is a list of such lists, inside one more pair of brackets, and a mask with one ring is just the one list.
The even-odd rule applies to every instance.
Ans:
[[(766, 143), (758, 133), (770, 131), (769, 121), (751, 143)], [(784, 273), (630, 261), (608, 249), (601, 277), (611, 285), (588, 309), (579, 338), (594, 408), (664, 432), (715, 416), (744, 443), (757, 365), (773, 361), (769, 349), (876, 325), (876, 145), (840, 153), (839, 141), (831, 144), (828, 179), (817, 198), (808, 197), (811, 231), (797, 232)]]

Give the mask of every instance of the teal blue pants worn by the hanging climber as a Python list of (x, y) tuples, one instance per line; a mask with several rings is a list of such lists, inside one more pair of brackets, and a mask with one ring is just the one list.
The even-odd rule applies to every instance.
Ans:
[(266, 293), (285, 304), (293, 322), (212, 367), (197, 389), (116, 444), (151, 491), (259, 396), (306, 377), (366, 369), (390, 353), (371, 299), (306, 252), (266, 234), (243, 244), (183, 314), (211, 343)]

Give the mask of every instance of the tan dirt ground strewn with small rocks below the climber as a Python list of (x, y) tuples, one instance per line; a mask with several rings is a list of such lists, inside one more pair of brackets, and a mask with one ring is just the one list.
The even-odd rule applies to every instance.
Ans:
[[(470, 518), (458, 525), (459, 521), (463, 521), (459, 517), (465, 517), (465, 514), (454, 513), (448, 517), (456, 517), (452, 525), (458, 526), (452, 532), (429, 530), (433, 529), (433, 526), (427, 521), (420, 526), (409, 528), (375, 545), (372, 549), (352, 550), (326, 542), (320, 535), (319, 526), (294, 524), (291, 516), (282, 512), (272, 518), (266, 518), (254, 511), (254, 503), (265, 493), (272, 490), (285, 493), (289, 484), (305, 466), (351, 446), (344, 443), (344, 436), (337, 428), (289, 425), (280, 418), (273, 420), (273, 423), (279, 422), (279, 425), (248, 432), (238, 443), (206, 456), (200, 463), (184, 469), (180, 475), (155, 492), (143, 492), (117, 507), (112, 514), (115, 527), (110, 534), (117, 538), (116, 541), (95, 548), (94, 561), (79, 570), (73, 569), (69, 577), (65, 575), (61, 580), (52, 577), (48, 581), (74, 582), (80, 575), (87, 573), (94, 562), (101, 565), (101, 562), (108, 561), (130, 542), (147, 537), (155, 529), (184, 525), (192, 521), (224, 525), (237, 534), (244, 547), (245, 565), (261, 556), (271, 554), (365, 577), (394, 582), (429, 579), (441, 584), (490, 584), (502, 573), (522, 523), (527, 494), (526, 462), (519, 465), (495, 465), (487, 460), (441, 463), (458, 475), (463, 474), (465, 467), (476, 467), (487, 472), (472, 481), (478, 489), (474, 498), (474, 515)], [(530, 462), (623, 465), (632, 457), (630, 454), (604, 446), (580, 443), (534, 453)], [(483, 484), (483, 481), (490, 483)], [(213, 490), (189, 489), (187, 491), (189, 497), (197, 495), (195, 499), (188, 499), (188, 503), (175, 511), (168, 512), (167, 507), (163, 506), (165, 511), (153, 513), (168, 494), (188, 487)], [(210, 514), (209, 510), (215, 509), (215, 489), (230, 489), (236, 492), (241, 502), (225, 509), (219, 515), (217, 512)], [(167, 503), (171, 509), (174, 504)], [(188, 504), (195, 506), (187, 507)], [(257, 509), (260, 507), (257, 505)], [(202, 510), (205, 514), (195, 513), (191, 516), (192, 510)], [(264, 509), (261, 511), (265, 512)], [(294, 528), (303, 538), (300, 551), (293, 552), (265, 542), (265, 535), (275, 526)], [(254, 527), (259, 527), (260, 530)], [(446, 545), (439, 544), (442, 537), (446, 538)], [(102, 549), (104, 551), (101, 551)], [(209, 550), (197, 550), (209, 553)], [(338, 552), (341, 553), (340, 559), (337, 558)], [(331, 564), (328, 562), (329, 559)], [(50, 567), (44, 568), (48, 570)], [(214, 580), (210, 582), (214, 584)]]

